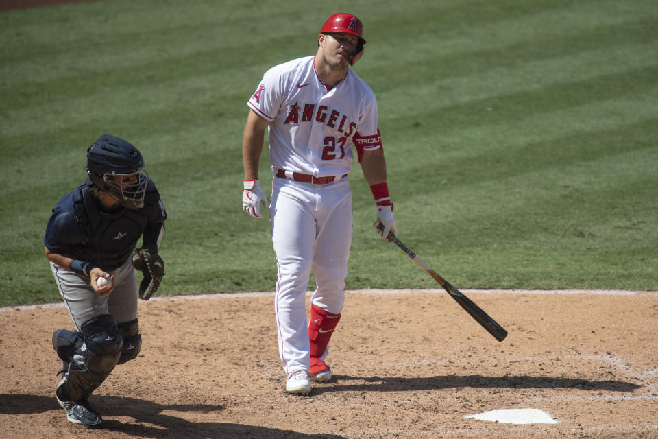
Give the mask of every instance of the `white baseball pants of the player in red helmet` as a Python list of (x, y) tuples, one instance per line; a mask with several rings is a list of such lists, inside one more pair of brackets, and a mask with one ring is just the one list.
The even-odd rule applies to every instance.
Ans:
[[(273, 178), (270, 226), (276, 254), (276, 323), (286, 375), (309, 368), (306, 289), (313, 305), (339, 314), (352, 244), (352, 193), (347, 177), (327, 185)], [(323, 355), (323, 358), (326, 353)]]

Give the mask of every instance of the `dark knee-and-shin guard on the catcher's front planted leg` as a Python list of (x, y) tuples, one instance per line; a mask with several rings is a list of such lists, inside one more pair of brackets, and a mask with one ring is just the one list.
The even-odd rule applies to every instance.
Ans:
[(70, 401), (87, 397), (110, 375), (119, 361), (123, 340), (109, 314), (87, 320), (80, 327), (84, 340), (71, 357), (66, 393)]

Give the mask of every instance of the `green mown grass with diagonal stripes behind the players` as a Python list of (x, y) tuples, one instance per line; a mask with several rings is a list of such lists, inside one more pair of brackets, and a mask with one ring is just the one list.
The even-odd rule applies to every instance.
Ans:
[[(106, 133), (167, 206), (158, 294), (273, 291), (267, 217), (241, 210), (246, 102), (334, 12), (364, 22), (355, 71), (426, 263), (462, 289), (658, 290), (655, 0), (114, 0), (0, 13), (0, 306), (60, 300), (45, 226)], [(438, 287), (350, 180), (348, 289)]]

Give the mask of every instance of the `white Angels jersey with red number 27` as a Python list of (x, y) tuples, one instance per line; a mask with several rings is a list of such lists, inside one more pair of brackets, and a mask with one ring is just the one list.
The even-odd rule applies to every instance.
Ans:
[[(381, 146), (371, 88), (348, 69), (328, 88), (315, 73), (315, 56), (269, 69), (248, 105), (269, 125), (273, 167), (314, 176), (341, 176), (352, 167), (352, 144)], [(358, 133), (358, 134), (357, 134)]]

